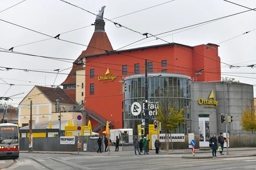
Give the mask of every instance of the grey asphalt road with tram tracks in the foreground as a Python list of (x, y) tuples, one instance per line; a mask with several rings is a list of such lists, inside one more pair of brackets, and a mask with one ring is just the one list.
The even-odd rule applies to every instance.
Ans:
[[(233, 151), (235, 153), (237, 151)], [(241, 153), (243, 151), (238, 151)], [(255, 153), (255, 150), (244, 153)], [(97, 154), (97, 153), (96, 153)], [(215, 159), (182, 159), (188, 154), (114, 156), (98, 153), (95, 156), (70, 154), (42, 154), (21, 153), (16, 164), (7, 170), (255, 170), (256, 157), (221, 158), (217, 154)], [(200, 156), (209, 156), (210, 153), (198, 153)]]

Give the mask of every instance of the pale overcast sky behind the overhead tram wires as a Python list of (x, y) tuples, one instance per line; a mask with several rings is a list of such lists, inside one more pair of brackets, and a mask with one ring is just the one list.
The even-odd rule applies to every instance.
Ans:
[[(0, 11), (3, 11), (4, 9), (9, 8), (10, 6), (13, 6), (21, 1), (22, 0), (0, 0)], [(67, 1), (95, 14), (98, 13), (96, 11), (99, 11), (99, 8), (106, 6), (104, 17), (112, 19), (124, 14), (155, 6), (160, 3), (165, 3), (169, 0)], [(232, 2), (239, 3), (249, 8), (256, 8), (255, 0), (233, 0)], [(184, 26), (201, 23), (207, 20), (224, 17), (229, 14), (235, 14), (246, 10), (248, 9), (225, 2), (224, 0), (175, 0), (164, 5), (156, 6), (154, 8), (127, 15), (125, 17), (114, 19), (113, 21), (142, 33), (148, 32), (150, 34), (159, 34), (165, 31), (182, 28)], [(94, 23), (95, 18), (96, 16), (93, 14), (74, 6), (70, 6), (69, 4), (61, 2), (60, 0), (25, 0), (17, 6), (0, 12), (1, 20), (6, 20), (8, 22), (15, 23), (17, 25), (24, 26), (51, 36), (56, 36), (57, 34), (89, 26), (77, 31), (61, 34), (61, 39), (84, 45), (88, 45), (90, 38), (93, 35), (94, 26), (90, 26), (90, 24)], [(168, 42), (176, 42), (190, 46), (207, 44), (208, 42), (218, 44), (219, 42), (223, 42), (255, 29), (255, 18), (256, 11), (248, 11), (243, 14), (235, 15), (223, 20), (218, 20), (216, 22), (192, 28), (187, 31), (179, 32), (174, 34), (173, 37), (172, 35), (163, 37), (163, 39)], [(117, 28), (111, 22), (106, 22), (105, 30), (114, 50), (143, 38), (142, 35), (129, 31), (125, 28)], [(175, 32), (169, 34), (173, 33)], [(169, 34), (163, 34), (161, 36), (166, 36)], [(0, 21), (0, 48), (9, 49), (14, 46), (48, 38), (49, 37), (45, 35)], [(146, 42), (148, 40), (153, 41)], [(130, 48), (166, 43), (161, 40), (154, 40), (153, 38), (142, 42), (146, 43)], [(240, 37), (236, 37), (233, 40), (219, 44), (220, 47), (218, 54), (221, 57), (222, 62), (230, 65), (256, 64), (255, 44), (256, 30)], [(51, 39), (15, 47), (14, 51), (47, 57), (76, 59), (81, 54), (81, 51), (85, 49), (86, 47), (82, 45)], [(72, 63), (0, 52), (0, 66), (54, 72), (53, 70), (55, 69), (66, 69), (72, 67)], [(221, 64), (221, 66), (221, 71), (223, 74), (233, 75), (221, 75), (221, 77), (235, 78), (235, 80), (239, 80), (240, 82), (256, 84), (256, 76), (252, 74), (256, 73), (256, 69), (249, 67), (230, 69), (224, 64)], [(70, 69), (62, 71), (62, 73), (67, 74), (69, 72)], [(9, 91), (5, 94), (5, 96), (25, 93), (15, 96), (19, 98), (13, 98), (12, 104), (18, 104), (33, 88), (33, 86), (18, 85), (44, 85), (45, 77), (46, 84), (52, 85), (56, 74), (17, 70), (0, 70), (0, 78), (9, 84), (15, 84), (9, 89), (10, 86), (4, 84), (5, 82), (0, 79), (0, 96), (3, 96), (8, 89)], [(58, 75), (54, 85), (61, 84), (66, 77), (67, 75)], [(256, 90), (256, 88), (254, 89)]]

